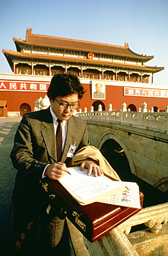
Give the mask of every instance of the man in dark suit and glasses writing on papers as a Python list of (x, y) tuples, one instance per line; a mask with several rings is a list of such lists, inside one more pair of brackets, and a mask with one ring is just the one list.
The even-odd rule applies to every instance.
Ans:
[[(68, 151), (73, 147), (76, 153), (88, 145), (86, 123), (73, 116), (80, 106), (79, 99), (84, 95), (80, 80), (73, 75), (55, 75), (47, 94), (50, 107), (23, 116), (11, 152), (12, 163), (18, 170), (12, 195), (16, 255), (37, 255), (35, 232), (39, 216), (42, 255), (64, 255), (64, 220), (55, 216), (52, 209), (46, 213), (48, 196), (41, 189), (41, 181), (61, 179), (72, 159)], [(62, 152), (59, 158), (59, 142), (55, 140), (58, 126), (62, 129)], [(55, 163), (53, 158), (59, 163)], [(84, 167), (88, 168), (88, 175), (91, 172), (95, 176), (102, 175), (100, 167), (93, 162), (80, 165), (81, 170)], [(67, 252), (65, 254), (68, 255)]]

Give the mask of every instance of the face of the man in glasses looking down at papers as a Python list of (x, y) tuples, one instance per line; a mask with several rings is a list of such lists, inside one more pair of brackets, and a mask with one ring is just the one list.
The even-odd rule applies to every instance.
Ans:
[(60, 110), (59, 103), (64, 104), (77, 104), (78, 103), (78, 94), (77, 93), (71, 93), (64, 97), (58, 96), (56, 97), (56, 100), (51, 100), (51, 108), (57, 118), (60, 120), (68, 120), (74, 113), (74, 111), (71, 111), (70, 106), (67, 107), (67, 109)]

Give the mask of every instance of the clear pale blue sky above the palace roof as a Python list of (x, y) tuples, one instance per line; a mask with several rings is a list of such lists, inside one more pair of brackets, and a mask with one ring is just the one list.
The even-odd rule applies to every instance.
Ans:
[[(16, 51), (12, 37), (33, 34), (124, 46), (165, 66), (154, 84), (168, 86), (168, 0), (1, 0), (0, 49)], [(12, 73), (0, 51), (0, 73)]]

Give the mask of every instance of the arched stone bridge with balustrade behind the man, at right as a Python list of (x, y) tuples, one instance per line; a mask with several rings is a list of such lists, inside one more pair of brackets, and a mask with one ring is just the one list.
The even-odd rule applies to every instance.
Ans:
[[(87, 122), (91, 145), (101, 152), (124, 154), (132, 174), (158, 188), (168, 190), (168, 107), (164, 112), (153, 112), (142, 103), (138, 112), (129, 111), (127, 104), (116, 111), (109, 104), (108, 111), (91, 111), (76, 114)], [(124, 172), (124, 170), (123, 170)]]

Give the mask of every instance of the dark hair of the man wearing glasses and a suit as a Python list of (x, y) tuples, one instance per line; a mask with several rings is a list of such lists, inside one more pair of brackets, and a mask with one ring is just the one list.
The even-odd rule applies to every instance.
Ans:
[(55, 99), (58, 96), (66, 96), (71, 93), (77, 93), (78, 98), (82, 99), (85, 91), (76, 75), (57, 74), (50, 81), (48, 88), (48, 98)]

